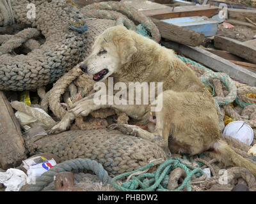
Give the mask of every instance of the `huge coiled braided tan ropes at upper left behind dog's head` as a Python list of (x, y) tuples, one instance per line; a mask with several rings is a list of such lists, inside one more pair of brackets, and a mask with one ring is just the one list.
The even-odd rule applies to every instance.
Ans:
[[(2, 1), (10, 3), (9, 0)], [(30, 3), (35, 4), (35, 18), (27, 17), (26, 6)], [(0, 4), (0, 11), (3, 11), (2, 7)], [(0, 36), (2, 90), (35, 90), (55, 82), (90, 54), (96, 36), (114, 25), (125, 25), (157, 42), (161, 38), (150, 18), (115, 1), (95, 3), (78, 10), (66, 0), (13, 0), (12, 5), (3, 8), (1, 13), (13, 13), (18, 24), (30, 25), (33, 29), (25, 29), (13, 36)], [(11, 24), (12, 20), (6, 22)], [(44, 43), (36, 40), (40, 32), (46, 38)], [(15, 48), (25, 43), (31, 52), (15, 54)]]

